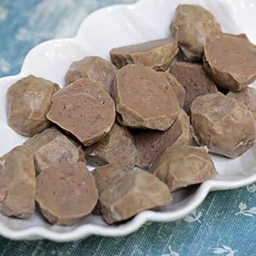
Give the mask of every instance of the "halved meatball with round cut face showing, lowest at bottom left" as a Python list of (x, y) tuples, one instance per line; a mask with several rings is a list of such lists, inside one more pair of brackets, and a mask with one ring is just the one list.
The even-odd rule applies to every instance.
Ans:
[(98, 191), (83, 163), (60, 163), (37, 176), (36, 201), (50, 223), (73, 225), (92, 212)]

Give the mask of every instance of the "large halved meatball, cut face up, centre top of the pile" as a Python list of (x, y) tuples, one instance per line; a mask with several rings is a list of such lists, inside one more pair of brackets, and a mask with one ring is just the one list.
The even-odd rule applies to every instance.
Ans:
[(178, 117), (179, 101), (168, 81), (146, 66), (120, 69), (113, 92), (118, 121), (125, 126), (165, 131)]

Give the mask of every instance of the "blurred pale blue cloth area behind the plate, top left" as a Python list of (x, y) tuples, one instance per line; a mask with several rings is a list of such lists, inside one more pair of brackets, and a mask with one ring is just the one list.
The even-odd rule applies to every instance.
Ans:
[(52, 38), (66, 38), (91, 12), (137, 0), (0, 0), (0, 76), (19, 73), (26, 54)]

